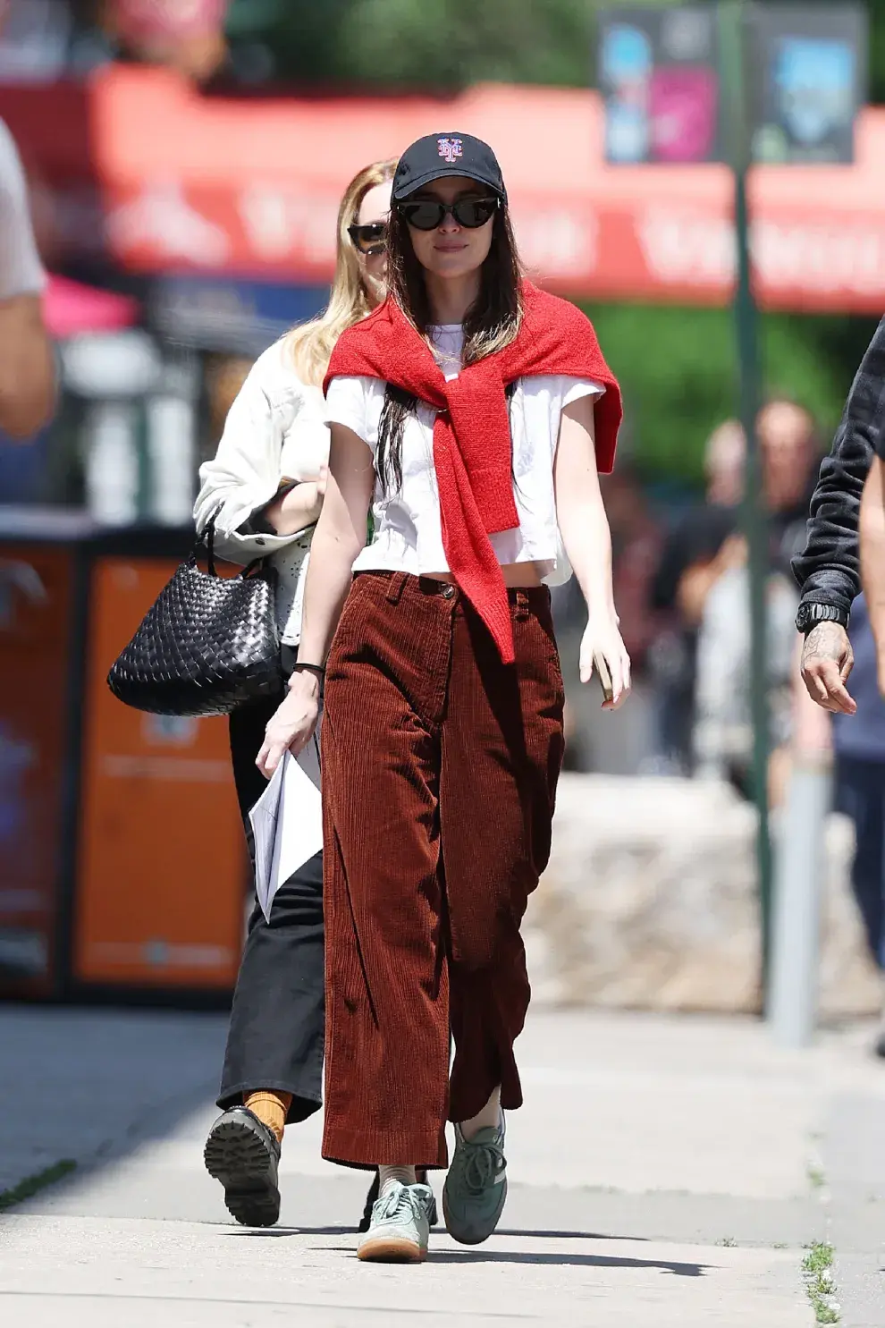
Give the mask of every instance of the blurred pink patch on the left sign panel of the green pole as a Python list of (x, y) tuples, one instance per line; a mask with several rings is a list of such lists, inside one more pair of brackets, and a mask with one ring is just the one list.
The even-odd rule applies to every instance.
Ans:
[(707, 161), (716, 138), (715, 73), (701, 65), (654, 69), (649, 114), (653, 161)]

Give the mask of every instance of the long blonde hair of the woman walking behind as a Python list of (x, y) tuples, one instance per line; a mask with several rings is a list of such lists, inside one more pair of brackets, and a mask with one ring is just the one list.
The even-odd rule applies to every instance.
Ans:
[(348, 235), (360, 215), (362, 199), (375, 185), (386, 185), (397, 170), (395, 159), (365, 166), (344, 191), (338, 208), (334, 280), (329, 303), (318, 317), (292, 328), (285, 348), (304, 382), (322, 384), (334, 344), (349, 327), (372, 311), (372, 300), (360, 267), (357, 251)]

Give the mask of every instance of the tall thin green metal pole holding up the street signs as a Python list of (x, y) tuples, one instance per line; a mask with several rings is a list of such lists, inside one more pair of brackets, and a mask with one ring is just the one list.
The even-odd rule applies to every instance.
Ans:
[(734, 296), (738, 341), (740, 422), (747, 438), (743, 529), (747, 537), (750, 574), (750, 704), (752, 714), (752, 789), (759, 829), (756, 841), (759, 911), (762, 926), (763, 984), (768, 976), (771, 936), (771, 835), (768, 826), (768, 653), (766, 647), (766, 587), (768, 579), (768, 521), (764, 510), (762, 462), (756, 437), (760, 405), (759, 317), (750, 268), (750, 214), (747, 171), (750, 167), (750, 114), (747, 105), (747, 9), (744, 0), (724, 0), (719, 7), (722, 90), (728, 161), (735, 185), (735, 238), (738, 272)]

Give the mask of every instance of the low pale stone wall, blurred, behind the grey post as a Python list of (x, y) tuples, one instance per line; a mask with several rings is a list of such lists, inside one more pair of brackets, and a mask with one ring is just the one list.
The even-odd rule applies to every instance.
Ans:
[[(756, 1011), (755, 813), (726, 785), (567, 774), (527, 916), (535, 999)], [(880, 979), (851, 895), (853, 831), (827, 826), (820, 1009), (873, 1013)]]

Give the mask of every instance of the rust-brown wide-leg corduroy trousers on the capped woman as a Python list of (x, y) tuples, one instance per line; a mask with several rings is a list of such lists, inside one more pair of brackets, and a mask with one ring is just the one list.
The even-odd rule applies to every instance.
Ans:
[(447, 1118), (498, 1085), (521, 1105), (520, 923), (549, 857), (563, 680), (547, 588), (510, 600), (510, 665), (454, 586), (364, 572), (345, 603), (322, 721), (336, 1162), (442, 1167)]

